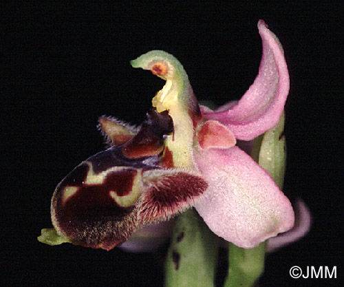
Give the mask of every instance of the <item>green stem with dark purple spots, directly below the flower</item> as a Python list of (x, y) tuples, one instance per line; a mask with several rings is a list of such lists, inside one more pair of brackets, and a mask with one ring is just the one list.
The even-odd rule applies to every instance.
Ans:
[(166, 257), (164, 286), (215, 286), (218, 237), (189, 209), (178, 216)]

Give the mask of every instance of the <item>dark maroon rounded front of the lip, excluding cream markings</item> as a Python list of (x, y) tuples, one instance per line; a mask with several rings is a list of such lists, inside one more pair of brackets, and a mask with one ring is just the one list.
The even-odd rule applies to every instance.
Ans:
[[(137, 226), (135, 202), (120, 206), (110, 192), (131, 192), (136, 169), (111, 171), (100, 184), (86, 184), (89, 166), (80, 164), (69, 173), (52, 198), (52, 222), (59, 234), (76, 244), (109, 250), (127, 240)], [(77, 187), (69, 197), (66, 188)]]

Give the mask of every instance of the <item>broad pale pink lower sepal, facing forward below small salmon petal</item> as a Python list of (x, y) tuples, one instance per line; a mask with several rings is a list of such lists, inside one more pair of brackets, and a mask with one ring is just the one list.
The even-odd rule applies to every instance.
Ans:
[(195, 152), (208, 182), (195, 208), (216, 235), (242, 248), (290, 230), (294, 211), (270, 175), (239, 147)]

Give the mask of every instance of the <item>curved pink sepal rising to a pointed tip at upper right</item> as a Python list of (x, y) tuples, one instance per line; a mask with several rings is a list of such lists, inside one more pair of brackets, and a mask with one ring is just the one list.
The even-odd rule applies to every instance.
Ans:
[(238, 140), (252, 140), (277, 125), (289, 92), (289, 74), (279, 40), (268, 30), (264, 21), (258, 22), (263, 54), (254, 83), (227, 110), (204, 109), (204, 117), (218, 120), (233, 131)]

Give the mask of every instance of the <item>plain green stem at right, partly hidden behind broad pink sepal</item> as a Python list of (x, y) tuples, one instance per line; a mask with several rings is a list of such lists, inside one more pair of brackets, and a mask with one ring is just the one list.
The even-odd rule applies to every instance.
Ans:
[[(286, 171), (286, 138), (283, 136), (284, 113), (276, 127), (255, 139), (252, 158), (266, 169), (280, 189)], [(250, 287), (264, 272), (266, 242), (244, 249), (229, 243), (229, 269), (225, 287)]]

